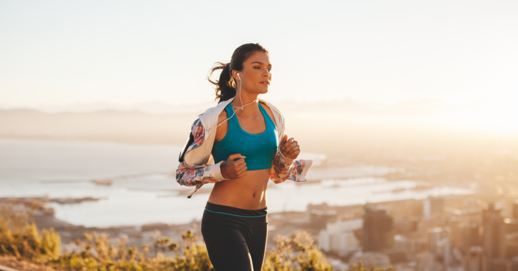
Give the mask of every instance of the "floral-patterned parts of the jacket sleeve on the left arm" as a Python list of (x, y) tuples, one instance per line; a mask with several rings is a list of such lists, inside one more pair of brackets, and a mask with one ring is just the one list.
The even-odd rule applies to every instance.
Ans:
[[(205, 141), (205, 131), (199, 119), (194, 121), (191, 126), (191, 132), (194, 136), (194, 142), (185, 153), (197, 148)], [(176, 169), (176, 181), (182, 186), (193, 187), (225, 180), (221, 175), (221, 163), (214, 164), (212, 155), (210, 155), (209, 161), (204, 165), (188, 165), (184, 161)]]

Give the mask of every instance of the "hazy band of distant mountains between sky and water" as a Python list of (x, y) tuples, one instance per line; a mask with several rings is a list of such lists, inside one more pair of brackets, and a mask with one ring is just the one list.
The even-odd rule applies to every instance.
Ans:
[[(439, 130), (518, 133), (518, 121), (512, 117), (515, 115), (480, 105), (452, 106), (431, 100), (383, 105), (351, 99), (274, 104), (284, 113), (286, 133), (312, 141), (316, 149), (322, 140), (328, 140), (325, 138), (331, 132), (362, 142), (369, 137), (376, 141), (378, 136), (389, 135), (403, 140)], [(97, 103), (38, 110), (0, 109), (0, 137), (182, 145), (197, 115), (214, 105)]]

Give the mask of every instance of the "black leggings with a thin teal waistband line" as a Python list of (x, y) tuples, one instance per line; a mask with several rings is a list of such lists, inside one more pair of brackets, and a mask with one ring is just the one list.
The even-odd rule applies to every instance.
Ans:
[(268, 237), (268, 207), (245, 210), (207, 202), (202, 235), (216, 271), (261, 271)]

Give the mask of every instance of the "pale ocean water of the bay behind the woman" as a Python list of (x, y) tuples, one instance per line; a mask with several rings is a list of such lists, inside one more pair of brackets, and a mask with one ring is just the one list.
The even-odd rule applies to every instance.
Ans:
[[(96, 197), (95, 202), (49, 204), (55, 216), (84, 226), (189, 223), (202, 217), (209, 193), (186, 193), (174, 177), (181, 146), (132, 145), (109, 142), (0, 139), (0, 197)], [(301, 153), (318, 165), (322, 153)], [(308, 179), (320, 183), (296, 185), (270, 182), (268, 210), (305, 211), (308, 204), (351, 205), (430, 195), (469, 194), (469, 189), (435, 187), (403, 190), (426, 184), (415, 180), (387, 181), (381, 176), (398, 170), (358, 166), (311, 168)], [(110, 186), (94, 179), (112, 179)], [(206, 184), (204, 188), (210, 188)]]

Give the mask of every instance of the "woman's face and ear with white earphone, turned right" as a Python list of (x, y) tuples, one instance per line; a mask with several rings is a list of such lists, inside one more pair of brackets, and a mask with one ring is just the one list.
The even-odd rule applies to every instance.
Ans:
[[(233, 71), (234, 78), (237, 78), (237, 71)], [(239, 72), (241, 78), (241, 90), (250, 93), (266, 93), (271, 82), (270, 56), (262, 51), (253, 53), (243, 63), (243, 70)], [(236, 81), (239, 85), (239, 82)]]

